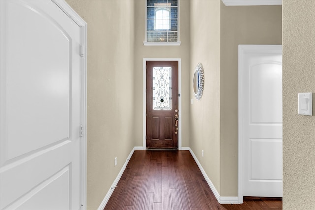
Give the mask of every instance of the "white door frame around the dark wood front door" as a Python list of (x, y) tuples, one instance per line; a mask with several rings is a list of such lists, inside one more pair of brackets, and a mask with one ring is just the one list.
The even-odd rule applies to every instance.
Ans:
[(180, 58), (143, 58), (143, 150), (146, 149), (146, 86), (147, 86), (147, 80), (146, 80), (146, 74), (147, 74), (147, 61), (178, 61), (178, 94), (180, 95), (178, 97), (178, 150), (182, 150), (182, 59)]

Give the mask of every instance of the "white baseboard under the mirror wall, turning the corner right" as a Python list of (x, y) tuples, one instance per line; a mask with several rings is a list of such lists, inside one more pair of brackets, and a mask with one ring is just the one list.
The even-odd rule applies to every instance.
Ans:
[(207, 181), (211, 191), (213, 192), (213, 194), (215, 195), (216, 199), (218, 200), (218, 202), (220, 204), (239, 204), (239, 199), (238, 197), (226, 197), (226, 196), (220, 196), (220, 194), (218, 193), (216, 187), (213, 185), (213, 183), (211, 182), (211, 180), (209, 179), (207, 173), (205, 172), (205, 170), (202, 168), (199, 160), (197, 159), (196, 155), (193, 153), (193, 151), (191, 150), (191, 148), (189, 148), (189, 151), (193, 157), (193, 159), (196, 161), (202, 175), (204, 176), (205, 180)]

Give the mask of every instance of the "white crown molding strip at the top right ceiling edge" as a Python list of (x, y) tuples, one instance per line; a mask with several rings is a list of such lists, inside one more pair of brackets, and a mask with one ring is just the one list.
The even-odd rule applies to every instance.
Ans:
[(222, 0), (225, 6), (282, 5), (282, 0)]

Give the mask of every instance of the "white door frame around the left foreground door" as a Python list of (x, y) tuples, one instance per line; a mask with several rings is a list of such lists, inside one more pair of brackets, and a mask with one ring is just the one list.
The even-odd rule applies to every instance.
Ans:
[(81, 147), (80, 147), (80, 180), (81, 180), (81, 209), (87, 209), (87, 23), (65, 2), (51, 0), (81, 28)]

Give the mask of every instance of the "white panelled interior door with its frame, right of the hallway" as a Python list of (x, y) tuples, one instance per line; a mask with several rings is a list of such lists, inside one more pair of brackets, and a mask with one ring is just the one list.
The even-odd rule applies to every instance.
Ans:
[(282, 197), (281, 45), (239, 46), (243, 196)]

